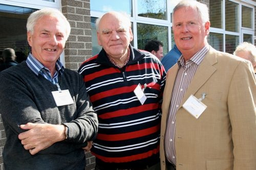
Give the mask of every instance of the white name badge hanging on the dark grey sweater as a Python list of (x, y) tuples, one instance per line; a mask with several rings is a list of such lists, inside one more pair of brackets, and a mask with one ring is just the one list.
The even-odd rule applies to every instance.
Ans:
[(57, 106), (71, 105), (74, 103), (68, 90), (52, 91)]

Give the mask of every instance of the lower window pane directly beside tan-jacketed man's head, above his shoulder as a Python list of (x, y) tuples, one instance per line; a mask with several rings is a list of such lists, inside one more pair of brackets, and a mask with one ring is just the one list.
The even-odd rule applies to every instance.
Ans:
[(210, 32), (208, 42), (214, 49), (223, 51), (223, 34)]

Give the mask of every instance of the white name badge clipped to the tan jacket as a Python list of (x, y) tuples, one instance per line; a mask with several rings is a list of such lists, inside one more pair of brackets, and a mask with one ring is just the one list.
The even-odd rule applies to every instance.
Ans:
[(182, 107), (196, 119), (198, 119), (198, 117), (200, 117), (204, 110), (207, 108), (207, 106), (204, 105), (204, 103), (202, 103), (194, 95), (190, 95)]

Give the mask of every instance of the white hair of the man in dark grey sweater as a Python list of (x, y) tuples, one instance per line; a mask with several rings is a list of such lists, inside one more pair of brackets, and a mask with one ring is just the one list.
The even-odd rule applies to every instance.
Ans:
[(30, 14), (30, 16), (28, 17), (28, 21), (27, 21), (27, 32), (31, 32), (33, 34), (34, 26), (35, 26), (36, 22), (43, 16), (54, 16), (56, 18), (62, 19), (66, 23), (65, 24), (66, 25), (66, 36), (67, 36), (66, 38), (68, 39), (68, 36), (71, 31), (70, 24), (69, 24), (67, 18), (59, 10), (54, 9), (54, 8), (43, 8), (41, 10), (38, 10), (38, 11)]

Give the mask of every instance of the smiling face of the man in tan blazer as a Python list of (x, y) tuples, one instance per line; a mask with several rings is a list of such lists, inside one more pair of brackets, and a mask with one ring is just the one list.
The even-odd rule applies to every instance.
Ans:
[(185, 60), (190, 59), (207, 43), (210, 22), (202, 23), (196, 8), (181, 7), (174, 12), (173, 32), (175, 43), (184, 55)]

